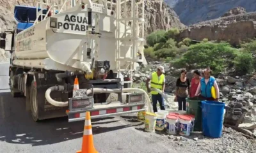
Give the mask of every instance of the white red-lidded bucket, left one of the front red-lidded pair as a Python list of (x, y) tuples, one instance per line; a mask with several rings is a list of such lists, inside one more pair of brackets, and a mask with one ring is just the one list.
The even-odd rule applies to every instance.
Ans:
[(169, 135), (177, 135), (178, 117), (175, 115), (167, 115), (166, 122), (166, 132)]

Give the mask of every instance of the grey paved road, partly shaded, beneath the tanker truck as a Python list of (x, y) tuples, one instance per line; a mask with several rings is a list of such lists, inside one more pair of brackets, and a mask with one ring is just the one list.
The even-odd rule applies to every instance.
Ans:
[[(8, 89), (8, 64), (0, 64), (0, 152), (76, 152), (81, 149), (84, 122), (67, 117), (34, 122), (24, 98), (12, 98)], [(143, 132), (136, 117), (122, 115), (92, 120), (99, 152), (172, 152), (155, 133)]]

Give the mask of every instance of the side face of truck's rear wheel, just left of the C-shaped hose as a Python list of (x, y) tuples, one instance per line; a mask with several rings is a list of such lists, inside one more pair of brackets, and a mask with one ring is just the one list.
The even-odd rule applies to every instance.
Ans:
[(31, 82), (30, 87), (30, 106), (33, 120), (35, 120), (35, 122), (38, 122), (38, 97), (34, 80)]

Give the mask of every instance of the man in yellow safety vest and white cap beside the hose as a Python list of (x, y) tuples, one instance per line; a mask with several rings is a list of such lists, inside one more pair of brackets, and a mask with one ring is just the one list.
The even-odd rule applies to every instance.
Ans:
[(157, 112), (157, 101), (159, 102), (161, 110), (165, 110), (164, 108), (164, 99), (161, 94), (159, 94), (157, 91), (151, 91), (148, 87), (148, 82), (151, 80), (150, 86), (152, 88), (160, 89), (162, 92), (164, 92), (165, 88), (165, 77), (164, 77), (164, 67), (158, 66), (157, 71), (152, 73), (148, 76), (146, 80), (146, 86), (148, 89), (148, 92), (151, 92), (152, 94), (152, 102), (153, 102), (153, 110), (154, 112)]

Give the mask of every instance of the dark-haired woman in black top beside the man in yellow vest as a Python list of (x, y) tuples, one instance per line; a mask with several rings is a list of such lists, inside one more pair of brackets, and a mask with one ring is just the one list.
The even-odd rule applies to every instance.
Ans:
[(189, 79), (186, 77), (187, 71), (182, 69), (180, 72), (180, 78), (177, 79), (176, 82), (176, 91), (175, 91), (175, 98), (179, 103), (179, 110), (186, 110), (186, 98), (188, 97), (189, 93)]

